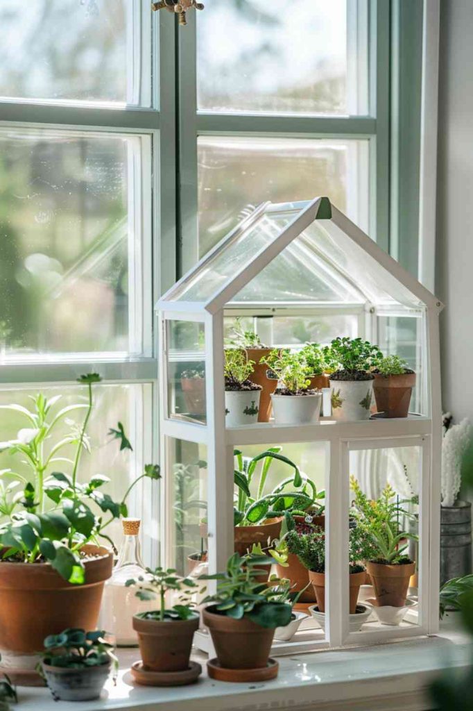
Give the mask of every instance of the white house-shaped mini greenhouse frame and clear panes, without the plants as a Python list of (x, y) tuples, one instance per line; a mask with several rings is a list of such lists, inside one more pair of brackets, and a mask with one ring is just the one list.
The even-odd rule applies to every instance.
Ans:
[[(273, 653), (435, 632), (440, 301), (328, 198), (315, 198), (260, 205), (158, 301), (157, 309), (165, 562), (187, 573), (208, 551), (210, 572), (224, 570), (237, 532), (234, 452), (254, 457), (282, 447), (317, 490), (325, 489), (326, 623), (304, 619), (292, 641), (275, 641)], [(320, 422), (291, 426), (270, 419), (226, 427), (224, 346), (236, 317), (269, 347), (297, 349), (305, 341), (361, 336), (384, 353), (401, 355), (417, 374), (408, 417), (373, 414), (341, 422), (330, 415), (326, 397)], [(276, 461), (274, 473), (281, 482), (290, 472)], [(410, 543), (416, 572), (400, 624), (381, 624), (368, 602), (366, 623), (352, 626), (346, 574), (350, 475), (369, 498), (379, 497), (389, 483), (396, 501), (414, 502), (409, 525), (418, 533), (418, 541)], [(259, 494), (265, 486), (260, 479)], [(363, 585), (360, 602), (373, 597), (371, 586)], [(205, 648), (205, 633), (197, 638)]]

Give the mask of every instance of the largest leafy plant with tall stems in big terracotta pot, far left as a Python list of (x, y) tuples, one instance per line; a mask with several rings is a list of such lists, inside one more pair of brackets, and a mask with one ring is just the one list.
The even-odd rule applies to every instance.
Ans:
[[(28, 467), (28, 476), (9, 472), (21, 488), (21, 496), (9, 492), (0, 525), (0, 650), (31, 655), (43, 647), (48, 634), (70, 627), (94, 629), (97, 625), (104, 582), (112, 574), (112, 543), (107, 527), (120, 515), (127, 515), (126, 498), (143, 477), (159, 479), (159, 467), (146, 465), (121, 501), (104, 492), (109, 479), (95, 474), (80, 483), (78, 474), (83, 451), (89, 451), (87, 423), (92, 412), (93, 386), (99, 375), (82, 375), (87, 402), (58, 409), (60, 396), (48, 400), (33, 398), (34, 407), (4, 405), (25, 417), (28, 428), (17, 439), (4, 442), (2, 451), (18, 456)], [(74, 412), (84, 412), (82, 424), (68, 424)], [(60, 424), (67, 434), (55, 439)], [(119, 440), (120, 449), (131, 449), (119, 422), (110, 434)], [(70, 452), (72, 448), (72, 458)], [(69, 456), (65, 456), (69, 455)], [(58, 462), (70, 471), (57, 471)], [(11, 666), (12, 663), (9, 663)]]

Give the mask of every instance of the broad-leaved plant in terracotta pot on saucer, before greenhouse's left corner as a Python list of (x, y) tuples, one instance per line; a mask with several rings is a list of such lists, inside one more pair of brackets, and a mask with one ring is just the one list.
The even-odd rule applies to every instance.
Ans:
[(208, 664), (212, 678), (246, 681), (277, 675), (277, 662), (268, 665), (271, 644), (276, 627), (289, 624), (292, 608), (281, 602), (274, 585), (258, 581), (259, 567), (271, 560), (234, 553), (225, 572), (200, 576), (217, 580), (217, 592), (205, 597), (203, 602), (210, 604), (202, 611), (217, 653), (217, 663)]

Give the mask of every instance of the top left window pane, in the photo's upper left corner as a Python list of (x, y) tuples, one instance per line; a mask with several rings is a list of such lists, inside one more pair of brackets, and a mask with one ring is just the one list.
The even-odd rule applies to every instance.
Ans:
[(2, 0), (0, 96), (149, 106), (149, 77), (141, 97), (134, 86), (137, 12), (131, 0)]

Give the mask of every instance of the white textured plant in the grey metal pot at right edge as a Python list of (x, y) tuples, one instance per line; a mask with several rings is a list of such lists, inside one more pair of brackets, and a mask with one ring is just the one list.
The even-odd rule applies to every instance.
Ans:
[(462, 459), (472, 437), (472, 426), (465, 417), (453, 424), (442, 441), (442, 506), (454, 506), (462, 484)]

